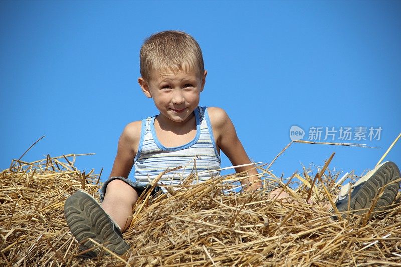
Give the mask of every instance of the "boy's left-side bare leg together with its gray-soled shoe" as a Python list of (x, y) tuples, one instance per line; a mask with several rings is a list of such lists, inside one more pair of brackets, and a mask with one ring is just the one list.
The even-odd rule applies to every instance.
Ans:
[(95, 247), (98, 243), (122, 255), (130, 246), (123, 239), (121, 230), (125, 230), (131, 222), (132, 206), (138, 200), (138, 194), (125, 182), (113, 180), (107, 185), (104, 200), (101, 206), (87, 192), (75, 192), (64, 204), (66, 221), (81, 246), (92, 249), (87, 254), (97, 255), (101, 250)]

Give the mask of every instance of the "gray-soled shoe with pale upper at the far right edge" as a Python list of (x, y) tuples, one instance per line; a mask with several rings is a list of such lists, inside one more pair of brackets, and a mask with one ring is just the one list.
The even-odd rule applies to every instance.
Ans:
[[(398, 181), (395, 181), (397, 179)], [(345, 218), (347, 216), (348, 202), (350, 212), (356, 215), (366, 214), (372, 204), (375, 204), (369, 215), (370, 219), (380, 211), (388, 208), (394, 201), (399, 186), (399, 169), (397, 165), (394, 162), (386, 161), (366, 173), (352, 186), (349, 183), (342, 186), (335, 205), (338, 211), (343, 213), (342, 217)], [(383, 187), (384, 189), (382, 190)], [(349, 190), (352, 190), (350, 195)], [(382, 193), (378, 195), (381, 190)]]

